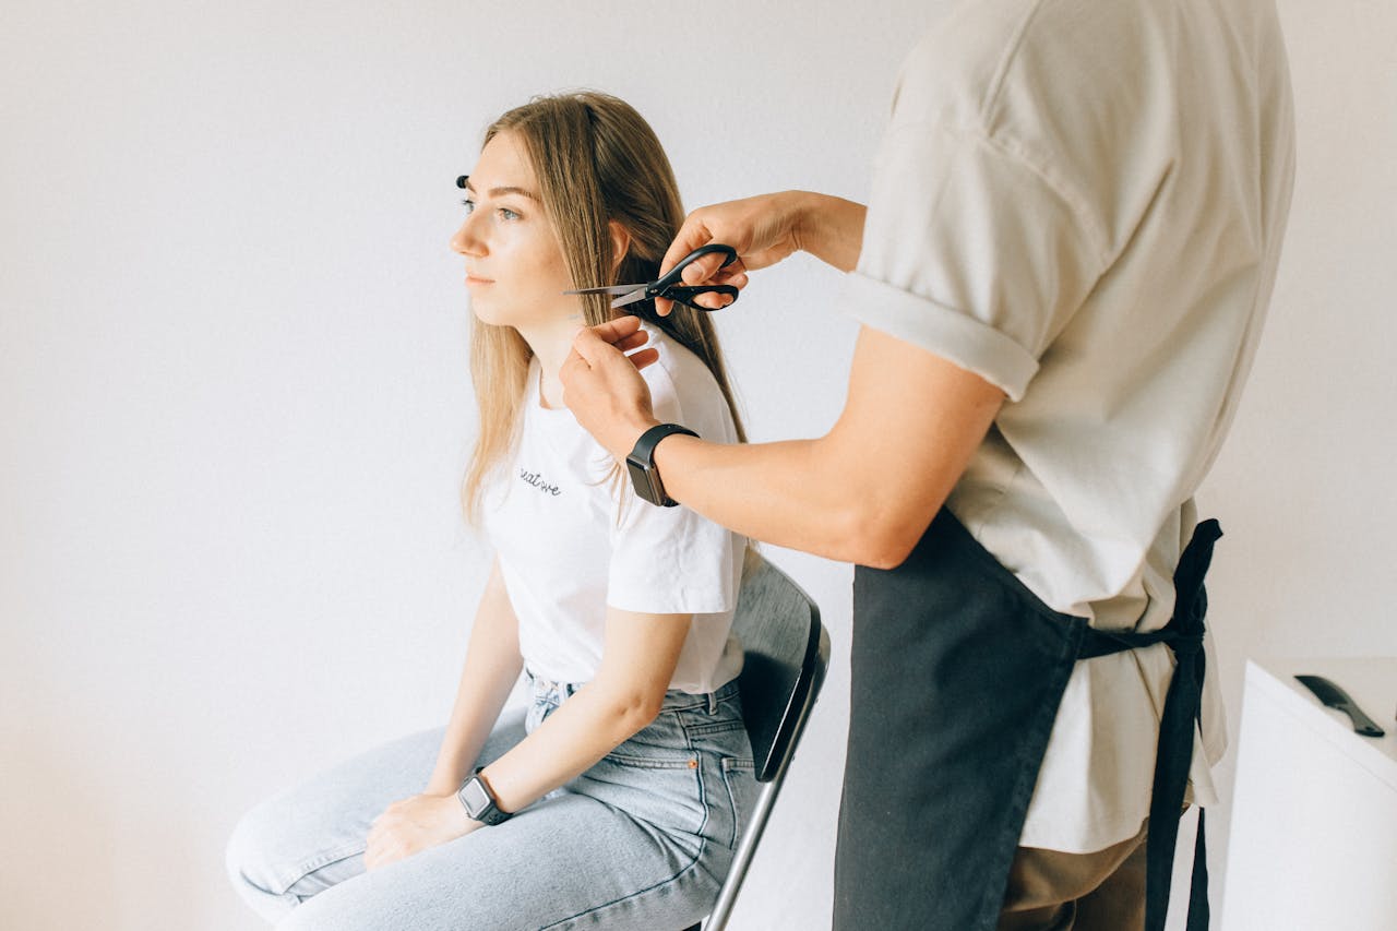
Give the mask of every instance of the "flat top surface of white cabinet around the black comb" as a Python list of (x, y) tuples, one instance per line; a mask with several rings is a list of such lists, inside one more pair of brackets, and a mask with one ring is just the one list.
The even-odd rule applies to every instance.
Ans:
[[(1373, 719), (1384, 737), (1355, 734), (1343, 712), (1326, 707), (1296, 675), (1323, 675), (1340, 686)], [(1248, 684), (1255, 685), (1294, 717), (1296, 724), (1334, 744), (1397, 790), (1397, 657), (1323, 658), (1266, 657), (1248, 660)]]

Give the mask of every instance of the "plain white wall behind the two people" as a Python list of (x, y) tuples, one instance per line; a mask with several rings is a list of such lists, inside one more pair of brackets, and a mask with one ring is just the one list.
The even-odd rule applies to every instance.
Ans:
[[(20, 6), (20, 4), (13, 4)], [(0, 924), (250, 931), (242, 809), (450, 700), (488, 554), (460, 523), (479, 133), (597, 87), (686, 203), (862, 197), (893, 0), (28, 4), (0, 29)], [(595, 10), (612, 11), (602, 18)], [(1221, 674), (1397, 653), (1397, 13), (1282, 3), (1299, 179), (1273, 320), (1201, 495)], [(821, 432), (854, 327), (798, 259), (719, 317), (754, 439)], [(735, 928), (827, 924), (851, 572), (774, 552), (835, 665)], [(1221, 868), (1225, 811), (1213, 819)]]

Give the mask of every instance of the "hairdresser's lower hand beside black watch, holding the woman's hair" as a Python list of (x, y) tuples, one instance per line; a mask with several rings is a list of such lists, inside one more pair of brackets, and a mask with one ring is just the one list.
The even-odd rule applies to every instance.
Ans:
[(659, 358), (657, 349), (641, 349), (650, 338), (638, 317), (617, 317), (595, 327), (583, 327), (573, 338), (573, 351), (563, 361), (563, 403), (577, 422), (622, 463), (647, 429), (658, 424), (650, 400), (650, 386), (640, 369)]

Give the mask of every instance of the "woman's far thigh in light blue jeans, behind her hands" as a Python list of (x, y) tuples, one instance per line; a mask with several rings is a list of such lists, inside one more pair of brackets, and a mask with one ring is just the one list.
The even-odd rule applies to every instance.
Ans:
[[(370, 822), (391, 802), (426, 787), (441, 735), (434, 728), (400, 738), (253, 808), (228, 846), (233, 885), (275, 920), (298, 902), (362, 874)], [(522, 712), (507, 712), (486, 741), (481, 765), (522, 738)]]

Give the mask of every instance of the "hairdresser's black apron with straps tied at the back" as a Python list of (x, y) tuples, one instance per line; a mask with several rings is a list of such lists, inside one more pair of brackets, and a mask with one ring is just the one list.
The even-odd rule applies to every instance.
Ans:
[[(993, 931), (1058, 705), (1077, 660), (1168, 643), (1146, 846), (1146, 930), (1162, 931), (1203, 686), (1215, 520), (1173, 576), (1169, 623), (1111, 633), (1049, 609), (946, 509), (897, 569), (858, 566), (837, 931)], [(1085, 777), (1085, 773), (1083, 774)], [(1207, 928), (1203, 812), (1189, 931)]]

